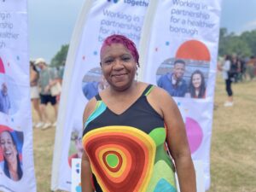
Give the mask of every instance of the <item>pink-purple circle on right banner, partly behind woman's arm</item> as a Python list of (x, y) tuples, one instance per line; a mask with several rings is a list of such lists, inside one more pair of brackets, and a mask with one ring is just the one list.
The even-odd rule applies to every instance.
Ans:
[(189, 140), (189, 148), (193, 154), (200, 146), (203, 138), (201, 126), (195, 119), (186, 118), (186, 131)]

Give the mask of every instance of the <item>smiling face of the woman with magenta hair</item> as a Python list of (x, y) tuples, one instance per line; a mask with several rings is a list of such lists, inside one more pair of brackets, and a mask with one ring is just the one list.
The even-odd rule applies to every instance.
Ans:
[(130, 87), (137, 71), (137, 62), (123, 44), (112, 44), (102, 50), (102, 73), (114, 90)]

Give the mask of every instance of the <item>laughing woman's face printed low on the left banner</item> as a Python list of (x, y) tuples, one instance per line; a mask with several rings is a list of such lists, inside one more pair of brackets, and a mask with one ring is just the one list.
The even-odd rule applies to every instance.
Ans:
[(8, 162), (12, 162), (16, 160), (16, 156), (18, 154), (17, 149), (15, 147), (15, 143), (10, 136), (8, 131), (3, 131), (0, 135), (0, 144), (3, 150), (4, 159)]

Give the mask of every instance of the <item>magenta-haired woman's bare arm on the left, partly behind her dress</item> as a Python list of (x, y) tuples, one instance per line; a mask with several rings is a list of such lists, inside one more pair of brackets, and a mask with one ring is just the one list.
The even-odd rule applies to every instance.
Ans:
[[(96, 99), (92, 98), (86, 105), (83, 114), (83, 127), (85, 125), (86, 119), (90, 116), (96, 107)], [(90, 160), (86, 154), (83, 152), (82, 162), (81, 162), (81, 186), (82, 192), (93, 192), (94, 188), (92, 185), (92, 172), (90, 169)]]

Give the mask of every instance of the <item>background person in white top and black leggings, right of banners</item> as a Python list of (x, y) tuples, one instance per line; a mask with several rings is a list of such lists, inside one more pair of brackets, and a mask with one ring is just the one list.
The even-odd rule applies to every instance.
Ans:
[(231, 56), (225, 55), (224, 56), (224, 64), (222, 66), (218, 66), (219, 70), (222, 71), (222, 76), (226, 84), (226, 91), (228, 94), (228, 99), (224, 102), (224, 107), (232, 107), (233, 102), (233, 91), (231, 89), (232, 79), (233, 77), (230, 76), (230, 67), (231, 67)]

